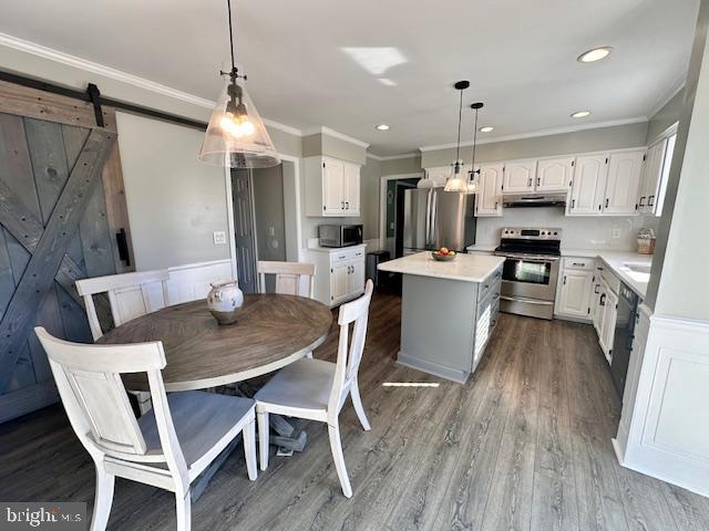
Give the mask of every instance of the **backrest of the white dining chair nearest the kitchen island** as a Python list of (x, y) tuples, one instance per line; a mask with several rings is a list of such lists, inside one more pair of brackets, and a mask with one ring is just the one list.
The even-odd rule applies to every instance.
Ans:
[[(359, 299), (342, 304), (338, 317), (340, 325), (340, 337), (337, 353), (337, 367), (335, 369), (335, 382), (330, 394), (330, 410), (338, 412), (343, 396), (346, 396), (352, 381), (357, 377), (359, 365), (364, 352), (364, 341), (367, 339), (367, 324), (369, 322), (369, 304), (372, 299), (373, 283), (367, 281), (364, 294)], [(352, 340), (349, 341), (350, 324), (352, 326)]]

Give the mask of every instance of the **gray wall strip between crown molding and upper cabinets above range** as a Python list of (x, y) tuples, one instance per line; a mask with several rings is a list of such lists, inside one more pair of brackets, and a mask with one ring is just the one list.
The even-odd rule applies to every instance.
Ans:
[[(624, 147), (645, 146), (647, 122), (585, 129), (559, 135), (495, 142), (477, 146), (475, 160), (502, 162), (515, 158), (544, 157), (572, 153), (599, 152)], [(471, 148), (461, 149), (462, 158), (470, 164)], [(424, 168), (446, 166), (455, 158), (455, 148), (423, 152), (421, 164)]]

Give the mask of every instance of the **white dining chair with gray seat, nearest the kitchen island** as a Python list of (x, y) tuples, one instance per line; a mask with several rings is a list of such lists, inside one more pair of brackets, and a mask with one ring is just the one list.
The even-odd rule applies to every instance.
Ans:
[[(328, 425), (330, 450), (342, 492), (348, 498), (352, 496), (352, 487), (342, 455), (338, 416), (347, 396), (350, 395), (362, 428), (371, 429), (359, 394), (357, 375), (367, 337), (372, 289), (372, 281), (368, 280), (364, 294), (361, 298), (340, 306), (338, 317), (340, 340), (337, 363), (301, 358), (281, 368), (256, 393), (254, 398), (256, 398), (261, 470), (266, 470), (268, 467), (269, 414), (319, 420)], [(354, 323), (354, 326), (352, 341), (348, 347), (351, 323)]]

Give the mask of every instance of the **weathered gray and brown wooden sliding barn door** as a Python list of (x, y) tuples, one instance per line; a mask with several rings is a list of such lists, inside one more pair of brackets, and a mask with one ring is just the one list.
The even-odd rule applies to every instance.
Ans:
[(32, 329), (92, 342), (74, 282), (132, 270), (116, 136), (0, 113), (0, 421), (58, 400)]

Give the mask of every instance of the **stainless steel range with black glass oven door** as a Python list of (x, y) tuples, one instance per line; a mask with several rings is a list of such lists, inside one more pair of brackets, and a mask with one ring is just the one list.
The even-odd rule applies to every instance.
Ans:
[(562, 229), (502, 229), (495, 254), (505, 258), (500, 310), (552, 319), (561, 257)]

